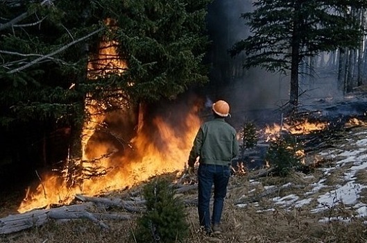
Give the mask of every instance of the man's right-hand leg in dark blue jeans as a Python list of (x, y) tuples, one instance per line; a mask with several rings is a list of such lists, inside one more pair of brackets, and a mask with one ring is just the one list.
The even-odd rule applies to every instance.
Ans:
[(214, 176), (214, 206), (212, 215), (212, 224), (219, 225), (223, 212), (223, 203), (227, 194), (227, 185), (230, 179), (229, 166), (216, 166), (216, 174)]

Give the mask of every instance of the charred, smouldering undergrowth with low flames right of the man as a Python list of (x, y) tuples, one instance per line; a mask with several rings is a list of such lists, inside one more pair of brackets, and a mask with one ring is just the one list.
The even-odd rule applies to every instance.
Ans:
[[(247, 125), (246, 125), (247, 124)], [(234, 160), (234, 167), (244, 171), (252, 169), (261, 169), (271, 167), (268, 157), (270, 151), (274, 151), (275, 157), (279, 160), (287, 160), (294, 156), (302, 165), (298, 165), (300, 171), (309, 171), (318, 167), (319, 164), (327, 163), (327, 160), (318, 158), (309, 158), (308, 153), (314, 153), (333, 146), (334, 142), (343, 139), (344, 133), (352, 128), (365, 126), (366, 116), (339, 116), (325, 117), (321, 112), (300, 112), (292, 114), (291, 117), (280, 117), (278, 123), (266, 124), (262, 128), (257, 128), (255, 135), (251, 135), (242, 129), (247, 129), (248, 122), (240, 126), (239, 140), (242, 141), (241, 154)], [(245, 144), (254, 141), (252, 146)], [(251, 144), (251, 143), (250, 143)], [(280, 158), (280, 151), (289, 151), (287, 158)], [(274, 157), (274, 156), (273, 156)], [(274, 158), (273, 158), (274, 159)], [(274, 162), (274, 161), (273, 161)], [(293, 163), (294, 164), (294, 163)], [(293, 169), (296, 167), (293, 166)]]

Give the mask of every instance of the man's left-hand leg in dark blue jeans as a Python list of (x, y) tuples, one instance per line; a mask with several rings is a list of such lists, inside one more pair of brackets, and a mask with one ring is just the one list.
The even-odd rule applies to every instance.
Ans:
[(210, 196), (214, 180), (214, 165), (199, 165), (198, 168), (198, 215), (200, 226), (210, 230)]

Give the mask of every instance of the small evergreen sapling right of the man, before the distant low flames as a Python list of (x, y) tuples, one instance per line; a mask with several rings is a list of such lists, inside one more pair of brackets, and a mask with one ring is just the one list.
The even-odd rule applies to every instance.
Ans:
[(296, 142), (296, 137), (284, 135), (271, 141), (266, 160), (275, 168), (275, 174), (287, 176), (291, 171), (302, 167), (300, 151), (301, 145)]

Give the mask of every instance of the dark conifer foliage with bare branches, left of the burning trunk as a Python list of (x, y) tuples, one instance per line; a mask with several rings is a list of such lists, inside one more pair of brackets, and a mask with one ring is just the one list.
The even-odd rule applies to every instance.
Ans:
[(36, 60), (98, 28), (94, 8), (89, 1), (62, 0), (51, 5), (2, 3), (0, 9), (0, 26), (28, 15), (15, 26), (0, 28), (0, 124), (8, 128), (10, 123), (27, 126), (36, 120), (50, 125), (57, 121), (56, 126), (80, 122), (85, 93), (91, 90), (81, 86), (87, 81), (86, 42)]

